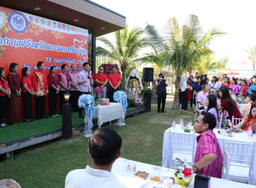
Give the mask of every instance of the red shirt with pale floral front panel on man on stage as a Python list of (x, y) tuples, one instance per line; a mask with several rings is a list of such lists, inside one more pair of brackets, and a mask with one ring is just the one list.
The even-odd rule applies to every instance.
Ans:
[(49, 93), (47, 79), (42, 71), (36, 71), (32, 76), (32, 86), (37, 96), (44, 96)]

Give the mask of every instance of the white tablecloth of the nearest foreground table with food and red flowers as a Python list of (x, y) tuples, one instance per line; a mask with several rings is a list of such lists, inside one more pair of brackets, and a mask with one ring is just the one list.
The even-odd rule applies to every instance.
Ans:
[[(137, 172), (137, 171), (145, 171), (146, 173), (150, 173), (150, 175), (161, 175), (162, 173), (166, 174), (166, 172), (170, 172), (172, 171), (172, 176), (174, 177), (174, 170), (172, 169), (168, 169), (168, 168), (164, 168), (164, 167), (157, 167), (155, 165), (152, 164), (146, 164), (143, 162), (137, 162), (137, 161), (133, 161), (133, 160), (129, 160), (129, 162), (135, 162), (136, 164), (136, 171), (135, 173), (131, 173), (129, 171), (124, 171), (123, 170), (123, 160), (126, 160), (125, 158), (118, 158), (115, 163), (113, 164), (113, 168), (112, 168), (112, 173), (116, 175), (117, 179), (119, 179), (119, 181), (121, 183), (123, 183), (124, 185), (126, 185), (129, 188), (152, 188), (153, 183), (151, 183), (150, 181), (147, 180), (143, 180), (143, 179), (138, 179), (135, 178), (133, 175)], [(163, 185), (163, 181), (161, 181), (160, 183), (158, 183), (159, 185)], [(175, 179), (175, 183), (173, 187), (181, 187), (176, 183), (176, 179)], [(191, 181), (191, 183), (188, 186), (189, 188), (194, 187), (194, 179), (193, 181)], [(253, 185), (247, 185), (245, 183), (237, 183), (234, 181), (228, 181), (228, 180), (224, 180), (224, 179), (218, 179), (218, 178), (211, 178), (211, 188), (227, 188), (227, 187), (232, 187), (232, 188), (249, 188), (249, 187), (255, 187)]]

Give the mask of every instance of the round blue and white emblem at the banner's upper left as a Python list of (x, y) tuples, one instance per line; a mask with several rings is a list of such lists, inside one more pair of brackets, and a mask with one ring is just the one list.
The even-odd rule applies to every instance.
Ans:
[(19, 11), (13, 11), (10, 13), (8, 23), (11, 30), (16, 33), (22, 34), (28, 30), (28, 19)]

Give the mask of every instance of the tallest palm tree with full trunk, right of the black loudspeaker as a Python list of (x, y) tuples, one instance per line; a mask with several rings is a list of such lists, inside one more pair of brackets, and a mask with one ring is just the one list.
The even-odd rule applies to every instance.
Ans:
[(216, 36), (224, 34), (218, 28), (212, 28), (205, 34), (200, 27), (196, 15), (189, 15), (183, 26), (175, 17), (170, 18), (164, 30), (160, 33), (154, 26), (146, 26), (146, 34), (152, 46), (163, 53), (168, 64), (176, 74), (175, 95), (172, 108), (179, 109), (179, 85), (181, 75), (186, 73), (192, 62), (199, 60), (205, 52), (205, 48)]

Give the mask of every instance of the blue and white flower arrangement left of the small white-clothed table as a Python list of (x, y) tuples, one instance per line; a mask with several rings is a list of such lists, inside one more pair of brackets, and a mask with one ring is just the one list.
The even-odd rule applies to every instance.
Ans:
[(86, 115), (89, 114), (90, 118), (90, 126), (91, 128), (94, 126), (92, 124), (92, 115), (94, 115), (95, 107), (94, 107), (94, 97), (92, 95), (83, 94), (78, 98), (78, 106), (84, 108)]

